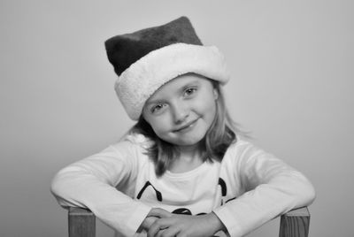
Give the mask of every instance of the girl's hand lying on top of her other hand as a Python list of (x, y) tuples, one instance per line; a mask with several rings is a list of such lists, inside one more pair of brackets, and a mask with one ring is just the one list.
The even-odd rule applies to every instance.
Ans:
[(158, 218), (150, 226), (148, 237), (205, 237), (219, 230), (225, 230), (225, 226), (213, 212), (201, 216), (172, 214), (171, 217)]

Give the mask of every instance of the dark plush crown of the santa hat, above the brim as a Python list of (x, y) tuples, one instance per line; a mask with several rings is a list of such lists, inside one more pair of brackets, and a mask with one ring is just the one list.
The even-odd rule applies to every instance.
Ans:
[(162, 26), (114, 36), (105, 42), (105, 49), (114, 71), (120, 75), (150, 51), (177, 42), (203, 45), (187, 17), (175, 19)]

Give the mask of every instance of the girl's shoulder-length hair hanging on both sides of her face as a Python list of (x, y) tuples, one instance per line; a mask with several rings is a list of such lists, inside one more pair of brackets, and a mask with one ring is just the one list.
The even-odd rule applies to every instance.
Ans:
[[(212, 121), (212, 125), (206, 132), (204, 139), (201, 141), (202, 160), (220, 162), (231, 143), (237, 141), (236, 133), (240, 130), (236, 128), (235, 122), (231, 119), (225, 104), (225, 98), (220, 88), (219, 82), (211, 80), (213, 88), (218, 92), (216, 99), (216, 114)], [(153, 142), (153, 145), (147, 149), (147, 155), (155, 164), (155, 172), (157, 176), (161, 176), (172, 164), (173, 159), (179, 157), (178, 148), (170, 142), (164, 141), (155, 134), (150, 124), (140, 117), (138, 122), (133, 126), (128, 134), (142, 134)]]

